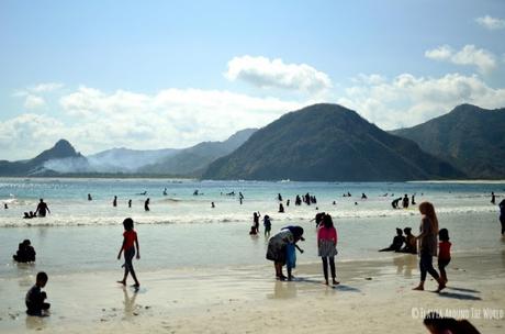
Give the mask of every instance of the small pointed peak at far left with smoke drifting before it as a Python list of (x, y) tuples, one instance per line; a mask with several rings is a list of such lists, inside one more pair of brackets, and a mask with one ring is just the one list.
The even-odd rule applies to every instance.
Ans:
[(86, 157), (76, 152), (74, 146), (65, 141), (58, 141), (52, 148), (44, 151), (33, 159), (22, 162), (0, 160), (1, 176), (48, 176), (58, 172), (87, 171), (89, 168)]

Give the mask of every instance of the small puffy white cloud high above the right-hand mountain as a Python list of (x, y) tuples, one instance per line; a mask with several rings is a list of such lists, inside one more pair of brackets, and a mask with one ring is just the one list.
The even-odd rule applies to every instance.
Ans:
[(476, 48), (475, 45), (464, 45), (459, 52), (450, 46), (442, 45), (425, 52), (425, 57), (435, 60), (448, 60), (457, 65), (476, 66), (482, 74), (489, 74), (496, 67), (496, 56), (484, 48)]

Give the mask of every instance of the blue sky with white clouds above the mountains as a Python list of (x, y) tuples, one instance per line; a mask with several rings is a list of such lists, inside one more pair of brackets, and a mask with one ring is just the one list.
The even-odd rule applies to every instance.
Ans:
[(0, 0), (0, 160), (180, 148), (338, 103), (505, 107), (505, 1)]

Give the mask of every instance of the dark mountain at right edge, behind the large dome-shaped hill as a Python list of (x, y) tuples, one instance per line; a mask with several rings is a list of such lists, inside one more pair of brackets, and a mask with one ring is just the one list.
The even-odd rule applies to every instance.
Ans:
[(393, 134), (451, 163), (470, 178), (505, 178), (505, 109), (461, 104), (451, 112)]

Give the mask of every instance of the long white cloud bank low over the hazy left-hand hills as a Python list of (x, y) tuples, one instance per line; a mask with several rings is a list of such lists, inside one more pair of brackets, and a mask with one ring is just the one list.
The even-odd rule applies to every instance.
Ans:
[[(0, 132), (9, 134), (3, 140), (10, 143), (0, 146), (0, 159), (33, 157), (59, 138), (67, 138), (86, 154), (114, 146), (188, 147), (202, 141), (225, 140), (246, 127), (265, 126), (308, 103), (218, 90), (166, 89), (144, 94), (80, 87), (59, 99), (64, 115), (58, 119), (66, 121), (25, 114), (0, 122)], [(33, 124), (38, 125), (32, 135), (29, 129)], [(50, 130), (44, 141), (41, 129)], [(31, 154), (26, 153), (26, 146)]]

